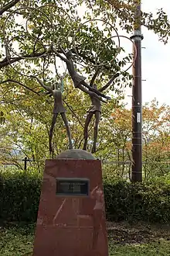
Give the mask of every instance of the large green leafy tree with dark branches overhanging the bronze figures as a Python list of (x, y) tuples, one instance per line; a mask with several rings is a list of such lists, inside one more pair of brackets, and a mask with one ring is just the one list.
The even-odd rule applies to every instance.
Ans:
[[(120, 78), (117, 79), (117, 85), (129, 85), (131, 83), (131, 75), (128, 74), (128, 71), (124, 70), (126, 70), (126, 64), (131, 61), (132, 56), (130, 54), (123, 57), (120, 61), (118, 54), (123, 52), (123, 48), (117, 47), (115, 44), (113, 35), (115, 36), (116, 32), (112, 24), (117, 19), (120, 19), (121, 28), (125, 29), (128, 33), (132, 31), (134, 26), (133, 14), (135, 11), (132, 1), (85, 1), (84, 3), (87, 8), (92, 7), (93, 12), (87, 9), (83, 19), (98, 19), (100, 16), (105, 20), (105, 22), (101, 22), (103, 29), (97, 26), (96, 20), (93, 20), (93, 22), (83, 22), (83, 19), (77, 13), (77, 6), (81, 3), (81, 1), (68, 2), (67, 0), (59, 1), (57, 4), (56, 1), (52, 0), (20, 0), (11, 2), (2, 0), (1, 3), (0, 86), (2, 91), (2, 107), (5, 108), (5, 104), (10, 102), (12, 105), (12, 110), (10, 111), (15, 112), (17, 109), (17, 111), (22, 112), (29, 122), (33, 116), (35, 126), (36, 122), (41, 123), (43, 126), (46, 126), (45, 130), (49, 129), (48, 122), (50, 116), (46, 97), (43, 98), (45, 95), (42, 88), (32, 81), (29, 75), (36, 74), (47, 83), (55, 80), (59, 81), (57, 75), (55, 78), (53, 77), (54, 67), (56, 67), (57, 74), (59, 73), (60, 64), (55, 52), (51, 50), (50, 46), (52, 44), (59, 54), (63, 53), (61, 47), (64, 50), (73, 51), (76, 58), (76, 69), (80, 71), (80, 74), (82, 72), (86, 74), (87, 81), (90, 81), (93, 77), (95, 64), (104, 63), (104, 67), (101, 67), (102, 72), (100, 72), (96, 80), (99, 88), (110, 79), (111, 75), (117, 72), (121, 74)], [(123, 13), (122, 8), (126, 12)], [(142, 17), (143, 24), (148, 29), (153, 29), (155, 33), (161, 36), (162, 40), (166, 41), (169, 30), (163, 28), (169, 28), (169, 23), (165, 13), (160, 10), (156, 18), (153, 18), (151, 13), (143, 13)], [(162, 18), (160, 22), (158, 20), (159, 17)], [(23, 23), (28, 25), (27, 29), (23, 26)], [(53, 70), (51, 69), (52, 65)], [(127, 78), (126, 82), (124, 82), (125, 78)], [(73, 90), (68, 76), (66, 76), (64, 84), (66, 92)], [(115, 88), (111, 84), (109, 89), (115, 92)], [(68, 95), (68, 99), (66, 99), (66, 104), (68, 101), (70, 103), (67, 107), (71, 113), (70, 120), (73, 119), (72, 127), (76, 127), (76, 130), (80, 129), (84, 122), (88, 99), (86, 95), (81, 95), (80, 92), (75, 93), (74, 91), (73, 95), (76, 99), (81, 99), (81, 97), (83, 99), (80, 101), (82, 106), (80, 115), (83, 118), (75, 111), (75, 109), (80, 108), (78, 104), (76, 105), (76, 101), (72, 102)], [(31, 100), (32, 97), (35, 99), (35, 102)], [(15, 104), (17, 101), (18, 104)], [(25, 101), (26, 103), (24, 103)], [(115, 103), (116, 101), (117, 99), (113, 102)], [(109, 106), (112, 108), (113, 102), (109, 103)], [(109, 109), (110, 111), (111, 109)], [(49, 116), (46, 116), (45, 112)], [(104, 115), (107, 116), (107, 113), (105, 114), (104, 112)], [(79, 123), (79, 126), (76, 126), (76, 122)], [(59, 130), (59, 137), (63, 136), (61, 133), (61, 130)], [(105, 136), (108, 135), (105, 132), (104, 134)], [(63, 147), (62, 140), (57, 141), (57, 152), (61, 149), (61, 146)], [(107, 144), (103, 138), (100, 141), (104, 145)], [(79, 133), (79, 137), (75, 136), (74, 144), (75, 147), (80, 147), (82, 144), (81, 133)], [(64, 147), (66, 145), (67, 143), (64, 144)], [(101, 144), (99, 143), (100, 148)]]

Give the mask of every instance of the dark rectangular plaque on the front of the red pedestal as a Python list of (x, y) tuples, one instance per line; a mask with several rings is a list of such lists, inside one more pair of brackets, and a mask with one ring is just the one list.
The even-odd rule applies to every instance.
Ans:
[(89, 195), (89, 179), (56, 178), (56, 195)]

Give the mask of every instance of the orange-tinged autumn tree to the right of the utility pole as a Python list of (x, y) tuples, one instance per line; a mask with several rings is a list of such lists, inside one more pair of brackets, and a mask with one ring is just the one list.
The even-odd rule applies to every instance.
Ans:
[(165, 175), (169, 159), (170, 107), (156, 99), (143, 107), (143, 169), (145, 178)]

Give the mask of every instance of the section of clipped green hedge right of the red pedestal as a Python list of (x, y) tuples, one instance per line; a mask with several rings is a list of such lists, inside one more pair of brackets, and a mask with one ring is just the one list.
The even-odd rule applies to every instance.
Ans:
[(170, 184), (162, 181), (129, 183), (104, 182), (107, 218), (170, 222)]

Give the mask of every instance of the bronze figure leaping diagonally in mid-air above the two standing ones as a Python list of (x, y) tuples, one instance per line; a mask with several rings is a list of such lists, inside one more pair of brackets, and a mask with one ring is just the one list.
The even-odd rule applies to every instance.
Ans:
[(73, 84), (74, 84), (75, 88), (80, 88), (81, 91), (86, 92), (91, 97), (95, 97), (102, 102), (105, 102), (102, 99), (102, 97), (105, 99), (110, 99), (110, 97), (107, 97), (106, 95), (102, 94), (96, 88), (92, 88), (90, 85), (88, 85), (87, 82), (85, 81), (86, 78), (76, 72), (74, 64), (73, 64), (73, 54), (70, 50), (65, 53), (65, 51), (61, 48), (63, 54), (66, 57), (63, 57), (63, 55), (59, 54), (55, 49), (52, 48), (52, 50), (56, 54), (57, 57), (59, 57), (62, 61), (64, 61), (66, 63), (66, 67), (69, 71), (70, 77), (73, 80)]

